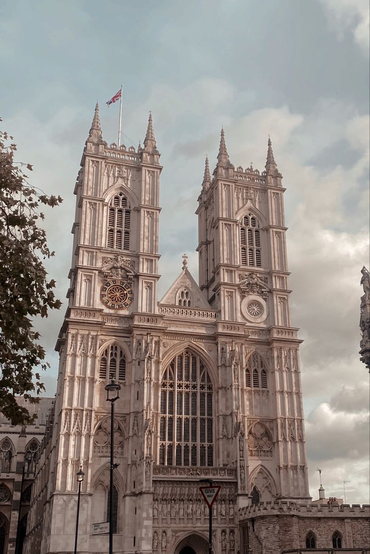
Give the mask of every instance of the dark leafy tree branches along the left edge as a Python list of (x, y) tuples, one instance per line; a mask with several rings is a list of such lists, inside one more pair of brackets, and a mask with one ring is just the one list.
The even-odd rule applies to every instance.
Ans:
[(32, 321), (61, 305), (43, 265), (54, 252), (39, 227), (40, 208), (58, 206), (62, 199), (30, 186), (23, 171), (32, 166), (14, 161), (17, 147), (11, 141), (0, 130), (0, 411), (12, 424), (24, 424), (33, 418), (15, 397), (37, 402), (45, 390), (38, 371), (49, 367)]

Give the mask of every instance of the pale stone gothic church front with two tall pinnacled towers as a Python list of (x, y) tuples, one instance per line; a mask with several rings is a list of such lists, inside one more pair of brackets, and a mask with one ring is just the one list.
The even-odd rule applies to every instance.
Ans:
[[(284, 188), (231, 163), (221, 132), (198, 198), (199, 285), (183, 269), (157, 299), (160, 152), (102, 139), (99, 107), (75, 186), (69, 305), (57, 342), (55, 411), (35, 478), (25, 552), (73, 552), (76, 472), (85, 473), (79, 552), (204, 554), (200, 479), (221, 485), (215, 552), (240, 548), (238, 510), (309, 501), (297, 329), (290, 326)], [(181, 245), (179, 245), (181, 247)], [(115, 403), (114, 488), (109, 490)]]

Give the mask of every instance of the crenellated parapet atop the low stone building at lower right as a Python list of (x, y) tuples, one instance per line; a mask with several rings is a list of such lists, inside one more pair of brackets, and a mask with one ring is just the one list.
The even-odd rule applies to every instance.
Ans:
[(364, 504), (299, 504), (294, 501), (275, 500), (274, 502), (260, 502), (253, 506), (244, 506), (239, 509), (239, 521), (249, 517), (285, 516), (299, 517), (370, 517), (370, 505)]

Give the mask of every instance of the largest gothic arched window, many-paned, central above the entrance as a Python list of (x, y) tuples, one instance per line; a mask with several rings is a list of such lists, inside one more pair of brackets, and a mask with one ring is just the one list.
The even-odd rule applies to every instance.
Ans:
[(174, 357), (161, 381), (161, 465), (213, 465), (212, 383), (199, 356)]

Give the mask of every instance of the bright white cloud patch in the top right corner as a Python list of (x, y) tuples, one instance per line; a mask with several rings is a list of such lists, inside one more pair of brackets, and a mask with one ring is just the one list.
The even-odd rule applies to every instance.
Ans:
[(338, 37), (345, 32), (353, 34), (353, 40), (363, 50), (369, 52), (369, 3), (368, 0), (321, 0), (327, 13), (328, 22)]

